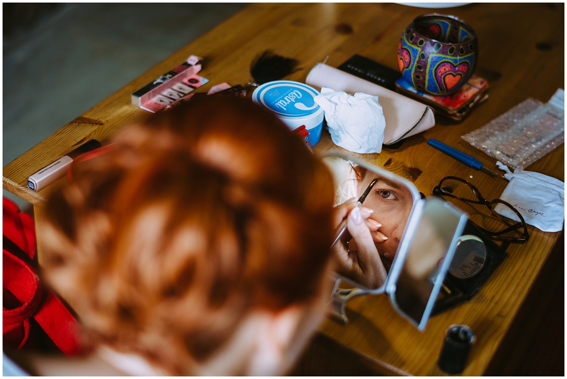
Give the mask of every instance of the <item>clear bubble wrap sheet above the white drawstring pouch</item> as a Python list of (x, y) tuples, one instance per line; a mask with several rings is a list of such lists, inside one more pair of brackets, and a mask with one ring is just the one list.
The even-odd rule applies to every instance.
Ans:
[(462, 138), (522, 171), (564, 142), (565, 111), (550, 103), (527, 99)]

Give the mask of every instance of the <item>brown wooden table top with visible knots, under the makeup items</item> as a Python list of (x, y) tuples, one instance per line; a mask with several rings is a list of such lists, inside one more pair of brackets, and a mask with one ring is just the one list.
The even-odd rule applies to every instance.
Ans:
[[(45, 191), (28, 190), (26, 177), (88, 139), (96, 138), (104, 144), (117, 131), (141, 120), (147, 114), (130, 104), (130, 93), (189, 55), (204, 57), (201, 74), (210, 83), (202, 91), (221, 82), (247, 83), (251, 79), (250, 62), (266, 49), (298, 59), (303, 70), (289, 79), (300, 82), (304, 82), (311, 67), (327, 56), (327, 65), (334, 67), (353, 54), (360, 54), (395, 69), (401, 32), (417, 15), (428, 12), (387, 3), (250, 5), (6, 165), (3, 188), (33, 203), (41, 237)], [(477, 3), (441, 12), (456, 15), (475, 29), (480, 45), (476, 74), (489, 80), (490, 99), (460, 124), (438, 117), (435, 127), (406, 139), (397, 150), (386, 148), (379, 155), (362, 157), (411, 179), (428, 195), (442, 177), (452, 174), (472, 176), (469, 180), (486, 198), (496, 198), (506, 186), (504, 181), (448, 159), (425, 141), (441, 140), (479, 157), (493, 168), (494, 159), (460, 136), (485, 125), (527, 97), (547, 101), (562, 86), (564, 5)], [(314, 150), (320, 153), (329, 148), (336, 146), (325, 131)], [(527, 169), (564, 180), (564, 146)], [(475, 332), (477, 342), (463, 374), (485, 373), (560, 237), (559, 232), (544, 233), (533, 227), (529, 231), (530, 241), (510, 245), (509, 258), (472, 300), (431, 318), (424, 333), (401, 318), (386, 296), (365, 296), (349, 303), (348, 325), (328, 320), (320, 327), (316, 341), (323, 338), (336, 344), (344, 349), (341, 356), (354, 357), (353, 365), (367, 365), (376, 372), (438, 375), (442, 372), (435, 363), (443, 333), (453, 323), (464, 323)], [(39, 254), (41, 259), (41, 244)], [(324, 357), (320, 359), (323, 361)]]

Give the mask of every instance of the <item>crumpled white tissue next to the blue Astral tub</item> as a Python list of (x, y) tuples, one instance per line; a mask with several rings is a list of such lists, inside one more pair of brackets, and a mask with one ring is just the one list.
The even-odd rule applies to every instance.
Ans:
[(333, 142), (346, 150), (362, 154), (382, 151), (386, 120), (378, 96), (321, 88), (315, 101), (325, 111)]

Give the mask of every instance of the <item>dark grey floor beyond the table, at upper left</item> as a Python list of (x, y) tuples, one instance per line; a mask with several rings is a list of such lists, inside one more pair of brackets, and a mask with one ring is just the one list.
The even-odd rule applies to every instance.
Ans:
[(2, 166), (245, 6), (3, 3)]

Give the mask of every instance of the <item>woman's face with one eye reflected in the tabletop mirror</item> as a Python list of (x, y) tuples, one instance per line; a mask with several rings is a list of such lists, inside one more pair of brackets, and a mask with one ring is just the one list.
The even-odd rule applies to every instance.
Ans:
[[(412, 194), (400, 183), (372, 172), (367, 172), (363, 180), (358, 181), (358, 194), (361, 195), (376, 178), (378, 181), (362, 206), (374, 210), (370, 218), (382, 224), (378, 231), (388, 237), (384, 242), (376, 242), (378, 253), (388, 254), (387, 258), (393, 259), (412, 210)], [(374, 241), (383, 241), (376, 233), (372, 234)]]

